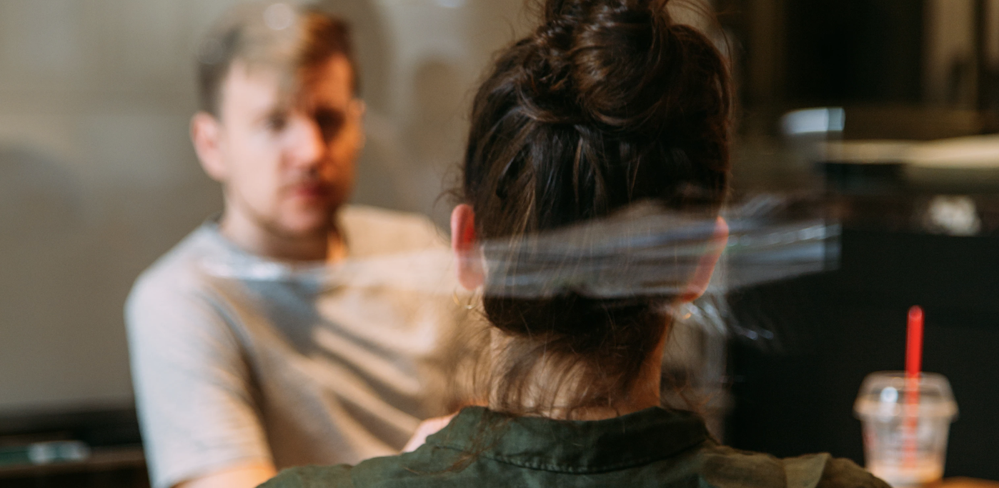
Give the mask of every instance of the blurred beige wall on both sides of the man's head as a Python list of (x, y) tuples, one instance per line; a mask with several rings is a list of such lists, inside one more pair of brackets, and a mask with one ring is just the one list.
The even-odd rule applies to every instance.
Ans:
[[(131, 402), (132, 280), (221, 209), (187, 139), (191, 58), (235, 1), (0, 2), (0, 412)], [(371, 109), (356, 201), (443, 223), (471, 91), (521, 1), (327, 3), (356, 21)]]

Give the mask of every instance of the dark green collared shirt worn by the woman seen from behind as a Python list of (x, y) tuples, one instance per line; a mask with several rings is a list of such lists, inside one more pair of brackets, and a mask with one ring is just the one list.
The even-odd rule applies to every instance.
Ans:
[(719, 445), (690, 412), (648, 408), (596, 421), (462, 410), (420, 449), (357, 466), (282, 471), (263, 488), (888, 488), (828, 454), (777, 459)]

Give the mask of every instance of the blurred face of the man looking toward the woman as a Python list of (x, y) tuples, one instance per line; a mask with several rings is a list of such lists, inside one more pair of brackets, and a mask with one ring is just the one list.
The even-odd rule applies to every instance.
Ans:
[(345, 57), (307, 72), (298, 87), (286, 94), (280, 73), (235, 62), (222, 87), (218, 169), (206, 163), (225, 188), (226, 219), (283, 239), (333, 228), (364, 141), (364, 106)]

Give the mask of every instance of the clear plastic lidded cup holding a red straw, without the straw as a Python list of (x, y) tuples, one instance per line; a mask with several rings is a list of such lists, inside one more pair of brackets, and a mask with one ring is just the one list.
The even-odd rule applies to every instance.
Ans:
[[(950, 383), (922, 373), (909, 395), (903, 371), (878, 371), (864, 378), (853, 411), (863, 423), (867, 470), (895, 488), (939, 480), (947, 454), (947, 433), (957, 416)], [(914, 391), (916, 388), (912, 388)]]

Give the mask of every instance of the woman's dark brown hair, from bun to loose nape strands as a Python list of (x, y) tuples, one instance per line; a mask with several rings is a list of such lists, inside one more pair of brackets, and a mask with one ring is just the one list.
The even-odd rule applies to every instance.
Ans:
[[(547, 0), (541, 25), (499, 54), (475, 98), (460, 191), (479, 238), (518, 249), (487, 255), (488, 273), (514, 268), (525, 237), (635, 203), (717, 214), (729, 180), (728, 69), (703, 34), (673, 22), (667, 3)], [(523, 297), (491, 292), (490, 282), (486, 316), (509, 337), (494, 358), (491, 400), (517, 414), (554, 407), (570, 416), (622, 399), (675, 298), (570, 286)], [(526, 405), (539, 366), (560, 375), (554, 384), (575, 386)]]

